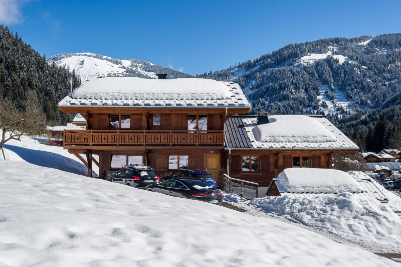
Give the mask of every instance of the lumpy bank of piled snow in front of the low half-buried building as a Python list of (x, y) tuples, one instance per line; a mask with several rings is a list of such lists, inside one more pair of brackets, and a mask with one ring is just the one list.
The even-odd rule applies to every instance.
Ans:
[[(362, 172), (349, 175), (354, 179), (369, 178)], [(368, 194), (352, 193), (286, 194), (252, 201), (231, 194), (225, 200), (334, 233), (373, 251), (401, 253), (401, 199), (384, 188), (381, 191), (388, 199), (386, 204)]]

